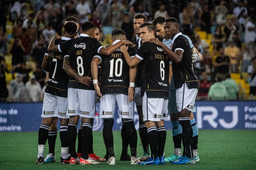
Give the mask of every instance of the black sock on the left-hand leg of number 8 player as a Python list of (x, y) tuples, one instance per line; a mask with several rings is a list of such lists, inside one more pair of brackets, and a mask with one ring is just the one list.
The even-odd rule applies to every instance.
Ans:
[(69, 154), (73, 158), (77, 158), (76, 154), (76, 136), (77, 136), (77, 125), (68, 124), (68, 146)]

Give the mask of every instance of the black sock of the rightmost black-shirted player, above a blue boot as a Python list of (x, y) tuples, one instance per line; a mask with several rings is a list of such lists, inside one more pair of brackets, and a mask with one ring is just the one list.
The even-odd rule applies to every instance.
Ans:
[(182, 127), (182, 142), (183, 142), (183, 153), (185, 150), (185, 155), (188, 158), (192, 158), (193, 157), (193, 130), (191, 127), (191, 123), (190, 123), (190, 118), (189, 117), (181, 117), (179, 118), (179, 123)]

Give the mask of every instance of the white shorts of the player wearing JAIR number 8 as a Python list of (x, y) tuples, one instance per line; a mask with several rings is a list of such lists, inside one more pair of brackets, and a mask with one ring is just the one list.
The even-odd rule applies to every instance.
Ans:
[(96, 110), (94, 90), (68, 88), (68, 116), (94, 118)]

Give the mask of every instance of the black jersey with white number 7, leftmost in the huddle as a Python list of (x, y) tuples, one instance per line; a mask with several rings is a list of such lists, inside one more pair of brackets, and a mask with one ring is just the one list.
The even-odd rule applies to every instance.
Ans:
[[(70, 40), (70, 38), (62, 37), (55, 41), (55, 45)], [(54, 53), (46, 51), (45, 55), (49, 56), (49, 78), (46, 84), (45, 92), (60, 97), (68, 96), (68, 80), (69, 76), (62, 69), (63, 53)]]

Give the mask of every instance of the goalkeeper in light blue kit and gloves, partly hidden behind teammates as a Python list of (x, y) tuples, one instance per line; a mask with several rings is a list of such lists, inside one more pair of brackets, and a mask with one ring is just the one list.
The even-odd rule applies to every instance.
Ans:
[[(165, 23), (165, 18), (164, 17), (157, 17), (156, 19), (153, 20), (152, 24), (155, 26), (155, 31), (156, 35), (159, 38), (163, 38), (162, 43), (164, 43), (169, 49), (171, 49), (172, 45), (172, 40), (165, 38), (165, 29), (164, 29), (164, 23)], [(194, 47), (192, 41), (190, 38), (186, 35), (185, 36), (190, 44), (191, 49), (193, 50), (192, 52), (192, 62), (201, 62), (203, 61), (202, 54), (200, 54), (197, 49)], [(159, 45), (161, 42), (157, 39), (151, 39), (150, 42), (156, 43)], [(170, 93), (169, 93), (169, 102), (168, 102), (168, 112), (170, 114), (170, 119), (172, 123), (172, 136), (173, 136), (173, 142), (174, 142), (174, 154), (171, 156), (165, 158), (165, 162), (173, 161), (175, 159), (178, 159), (182, 156), (181, 153), (181, 141), (182, 141), (182, 128), (181, 125), (179, 124), (179, 116), (178, 114), (178, 109), (177, 109), (177, 104), (176, 104), (176, 89), (174, 87), (174, 81), (173, 77), (171, 80), (170, 84)], [(196, 121), (193, 116), (193, 112), (196, 112), (196, 107), (194, 106), (194, 109), (192, 111), (192, 114), (190, 116), (190, 122), (191, 126), (193, 129), (193, 155), (196, 160), (196, 162), (199, 161), (199, 156), (197, 154), (197, 145), (198, 145), (198, 128), (196, 125)]]

